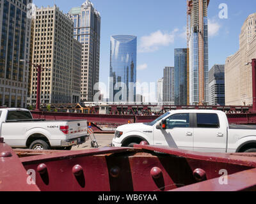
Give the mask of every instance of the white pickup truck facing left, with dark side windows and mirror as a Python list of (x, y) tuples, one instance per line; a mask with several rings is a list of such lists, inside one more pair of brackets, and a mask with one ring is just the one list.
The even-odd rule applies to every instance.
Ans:
[(196, 152), (256, 152), (256, 126), (228, 124), (215, 110), (175, 110), (148, 124), (127, 124), (116, 129), (113, 147), (133, 147), (145, 140)]

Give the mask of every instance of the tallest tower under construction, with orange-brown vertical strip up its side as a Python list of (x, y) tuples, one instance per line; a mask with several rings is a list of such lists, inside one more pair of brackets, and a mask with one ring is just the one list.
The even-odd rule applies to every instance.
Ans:
[(208, 99), (208, 18), (209, 0), (189, 0), (189, 102), (203, 105)]

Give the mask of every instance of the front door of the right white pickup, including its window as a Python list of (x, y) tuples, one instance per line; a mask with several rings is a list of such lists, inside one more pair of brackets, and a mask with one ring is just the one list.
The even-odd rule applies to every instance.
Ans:
[(193, 150), (193, 128), (190, 128), (190, 114), (178, 113), (166, 120), (166, 129), (154, 128), (154, 145)]

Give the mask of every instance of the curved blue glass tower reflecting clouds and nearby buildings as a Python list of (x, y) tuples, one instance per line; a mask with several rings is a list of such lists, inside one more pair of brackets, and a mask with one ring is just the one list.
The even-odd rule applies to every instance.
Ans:
[(109, 102), (136, 100), (137, 37), (111, 36)]

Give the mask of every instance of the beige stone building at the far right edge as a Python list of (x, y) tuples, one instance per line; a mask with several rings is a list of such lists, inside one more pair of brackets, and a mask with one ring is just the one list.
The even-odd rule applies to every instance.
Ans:
[(256, 13), (249, 15), (239, 36), (239, 50), (225, 64), (226, 105), (252, 105), (252, 65), (256, 59)]

